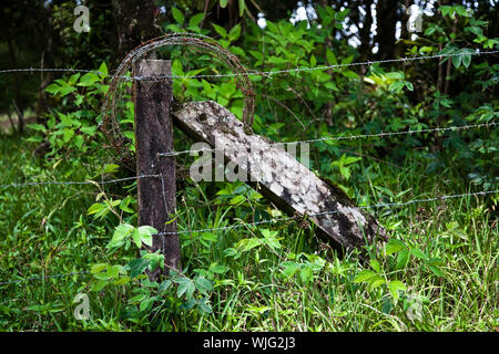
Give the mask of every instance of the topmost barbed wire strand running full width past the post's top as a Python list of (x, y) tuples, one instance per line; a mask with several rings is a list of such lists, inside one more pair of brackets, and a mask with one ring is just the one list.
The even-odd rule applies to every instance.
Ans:
[(487, 52), (459, 52), (459, 53), (449, 53), (449, 54), (435, 54), (435, 55), (420, 55), (420, 56), (405, 56), (399, 59), (385, 59), (385, 60), (375, 60), (375, 61), (365, 61), (365, 62), (355, 62), (348, 64), (334, 64), (334, 65), (324, 65), (324, 66), (315, 66), (315, 67), (296, 67), (296, 69), (287, 69), (287, 70), (276, 70), (276, 71), (257, 71), (249, 70), (246, 74), (241, 73), (230, 73), (230, 74), (205, 74), (205, 75), (154, 75), (154, 76), (130, 76), (130, 75), (110, 75), (109, 73), (103, 73), (99, 70), (84, 70), (84, 69), (74, 69), (74, 67), (24, 67), (24, 69), (4, 69), (0, 70), (0, 74), (4, 73), (13, 73), (13, 72), (72, 72), (72, 73), (94, 73), (99, 75), (110, 76), (111, 79), (120, 77), (124, 80), (136, 80), (136, 81), (147, 81), (147, 80), (161, 80), (161, 79), (210, 79), (210, 77), (234, 77), (234, 76), (273, 76), (277, 74), (285, 73), (294, 73), (294, 72), (306, 72), (306, 71), (325, 71), (339, 67), (349, 67), (349, 66), (363, 66), (363, 65), (374, 65), (374, 64), (384, 64), (384, 63), (397, 63), (397, 62), (411, 62), (411, 61), (420, 61), (420, 60), (431, 60), (431, 59), (445, 59), (445, 58), (454, 58), (454, 56), (464, 56), (464, 55), (490, 55), (498, 54), (497, 51), (487, 51)]

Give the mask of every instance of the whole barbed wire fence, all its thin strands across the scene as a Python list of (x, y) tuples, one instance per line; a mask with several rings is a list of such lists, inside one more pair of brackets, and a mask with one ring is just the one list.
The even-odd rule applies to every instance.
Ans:
[[(400, 59), (390, 59), (390, 60), (379, 60), (379, 61), (365, 61), (365, 62), (354, 62), (348, 64), (335, 64), (335, 65), (324, 65), (324, 66), (315, 66), (315, 67), (296, 67), (296, 69), (288, 69), (288, 70), (275, 70), (275, 71), (256, 71), (256, 70), (249, 70), (245, 73), (230, 73), (230, 74), (212, 74), (212, 75), (154, 75), (153, 77), (147, 76), (130, 76), (130, 75), (109, 75), (108, 73), (103, 73), (95, 70), (81, 70), (81, 69), (73, 69), (73, 67), (55, 67), (55, 69), (47, 69), (47, 67), (26, 67), (26, 69), (6, 69), (0, 70), (0, 74), (8, 74), (8, 73), (14, 73), (14, 72), (24, 72), (24, 73), (34, 73), (34, 72), (69, 72), (69, 73), (94, 73), (100, 74), (103, 76), (110, 76), (110, 77), (119, 77), (126, 81), (149, 81), (149, 80), (172, 80), (172, 79), (216, 79), (216, 77), (235, 77), (235, 76), (266, 76), (266, 77), (273, 77), (273, 75), (279, 75), (279, 74), (289, 74), (289, 73), (298, 73), (298, 72), (310, 72), (310, 71), (326, 71), (326, 70), (334, 70), (334, 69), (340, 69), (340, 67), (349, 67), (349, 66), (363, 66), (363, 65), (374, 65), (374, 64), (384, 64), (384, 63), (398, 63), (398, 62), (414, 62), (414, 61), (424, 61), (424, 60), (434, 60), (434, 59), (445, 59), (445, 58), (454, 58), (454, 56), (460, 56), (460, 55), (490, 55), (490, 54), (498, 54), (499, 51), (476, 51), (476, 52), (459, 52), (459, 53), (448, 53), (448, 54), (435, 54), (435, 55), (420, 55), (420, 56), (409, 56), (409, 58), (400, 58)], [(326, 136), (320, 138), (314, 138), (314, 139), (304, 139), (304, 140), (296, 140), (296, 142), (277, 142), (274, 143), (274, 145), (291, 145), (291, 144), (306, 144), (306, 143), (319, 143), (319, 142), (327, 142), (327, 140), (357, 140), (357, 139), (367, 139), (367, 138), (381, 138), (381, 137), (389, 137), (389, 136), (399, 136), (399, 135), (415, 135), (415, 134), (424, 134), (424, 133), (445, 133), (445, 132), (458, 132), (458, 131), (468, 131), (468, 129), (480, 129), (480, 128), (489, 128), (495, 127), (499, 125), (499, 122), (488, 122), (482, 124), (472, 124), (472, 125), (464, 125), (464, 126), (450, 126), (450, 127), (434, 127), (434, 128), (421, 128), (421, 129), (408, 129), (408, 131), (401, 131), (401, 132), (381, 132), (377, 134), (359, 134), (359, 135), (344, 135), (344, 136)], [(193, 154), (193, 153), (200, 153), (200, 152), (216, 152), (216, 148), (208, 148), (208, 149), (190, 149), (190, 150), (181, 150), (181, 152), (169, 152), (169, 153), (161, 153), (160, 156), (169, 157), (169, 156), (179, 156), (183, 154)], [(23, 188), (23, 187), (40, 187), (40, 186), (74, 186), (74, 185), (109, 185), (109, 184), (118, 184), (118, 183), (125, 183), (125, 181), (132, 181), (138, 180), (140, 178), (162, 178), (161, 175), (139, 175), (133, 177), (125, 177), (125, 178), (118, 178), (118, 179), (110, 179), (110, 180), (101, 180), (101, 181), (94, 181), (94, 180), (67, 180), (67, 181), (58, 181), (58, 180), (49, 180), (49, 181), (26, 181), (26, 183), (12, 183), (12, 184), (4, 184), (0, 185), (0, 190), (7, 189), (7, 188)], [(438, 197), (431, 197), (431, 198), (421, 198), (421, 199), (413, 199), (405, 202), (387, 202), (387, 204), (376, 204), (376, 205), (368, 205), (368, 206), (359, 206), (356, 207), (356, 209), (379, 209), (379, 208), (396, 208), (396, 207), (406, 207), (414, 204), (424, 204), (424, 202), (431, 202), (431, 201), (444, 201), (448, 199), (456, 199), (456, 198), (466, 198), (466, 197), (478, 197), (478, 196), (487, 196), (487, 195), (495, 195), (499, 194), (499, 190), (482, 190), (477, 192), (468, 192), (468, 194), (456, 194), (456, 195), (445, 195), (445, 196), (438, 196)], [(164, 196), (164, 189), (163, 189), (163, 197)], [(323, 216), (323, 215), (332, 215), (339, 212), (339, 210), (330, 210), (326, 212), (318, 212), (308, 215), (307, 217), (316, 217), (316, 216)], [(291, 216), (291, 217), (281, 217), (281, 218), (272, 218), (269, 220), (259, 220), (259, 221), (253, 221), (253, 222), (244, 222), (241, 220), (241, 223), (231, 225), (231, 226), (224, 226), (224, 227), (216, 227), (216, 228), (204, 228), (204, 229), (195, 229), (195, 230), (180, 230), (177, 232), (159, 232), (156, 236), (166, 236), (172, 233), (201, 233), (201, 232), (211, 232), (211, 231), (225, 231), (225, 230), (233, 230), (237, 228), (251, 228), (259, 225), (269, 225), (269, 223), (276, 223), (276, 222), (287, 222), (292, 220), (296, 220), (302, 217), (297, 216)], [(29, 281), (37, 281), (37, 280), (43, 280), (43, 279), (60, 279), (60, 278), (67, 278), (67, 277), (73, 277), (73, 275), (89, 275), (89, 271), (77, 271), (77, 272), (70, 272), (70, 273), (60, 273), (60, 274), (44, 274), (44, 275), (33, 275), (23, 279), (17, 279), (17, 280), (9, 280), (0, 282), (0, 287), (9, 285), (9, 284), (19, 284), (22, 282), (29, 282)]]

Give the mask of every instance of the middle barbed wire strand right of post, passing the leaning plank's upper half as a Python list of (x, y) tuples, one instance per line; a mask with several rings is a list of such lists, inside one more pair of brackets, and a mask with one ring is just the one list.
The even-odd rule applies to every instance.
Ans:
[[(425, 129), (408, 129), (408, 131), (400, 131), (400, 132), (383, 132), (383, 133), (376, 133), (376, 134), (360, 134), (360, 135), (345, 135), (345, 136), (326, 136), (320, 137), (316, 139), (307, 139), (307, 140), (296, 140), (296, 142), (284, 142), (284, 143), (274, 143), (273, 146), (279, 146), (279, 145), (293, 145), (293, 144), (304, 144), (304, 143), (319, 143), (319, 142), (326, 142), (326, 140), (355, 140), (355, 139), (363, 139), (363, 138), (373, 138), (373, 137), (384, 137), (384, 136), (395, 136), (395, 135), (414, 135), (414, 134), (424, 134), (424, 133), (432, 133), (432, 132), (450, 132), (450, 131), (466, 131), (466, 129), (473, 129), (473, 128), (482, 128), (482, 127), (491, 127), (499, 125), (499, 122), (491, 122), (491, 123), (481, 123), (481, 124), (471, 124), (471, 125), (462, 125), (462, 126), (449, 126), (449, 127), (436, 127), (436, 128), (425, 128)], [(198, 149), (192, 149), (192, 150), (182, 150), (182, 152), (170, 152), (170, 153), (160, 153), (157, 156), (177, 156), (183, 154), (191, 154), (191, 153), (202, 153), (202, 152), (216, 152), (216, 150), (223, 150), (223, 148), (198, 148)]]

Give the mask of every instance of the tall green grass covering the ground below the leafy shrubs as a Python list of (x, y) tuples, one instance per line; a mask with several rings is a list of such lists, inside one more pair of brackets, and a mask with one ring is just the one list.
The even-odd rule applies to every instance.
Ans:
[[(1, 185), (83, 180), (93, 170), (71, 160), (42, 165), (24, 144), (4, 136), (0, 139), (0, 166)], [(401, 169), (364, 160), (358, 195), (370, 196), (364, 202), (373, 205), (476, 191), (454, 178), (451, 170), (434, 176), (421, 176), (419, 170), (416, 156), (408, 156)], [(272, 209), (264, 200), (251, 198), (226, 206), (230, 199), (215, 195), (223, 186), (185, 183), (177, 199), (180, 228), (232, 225), (236, 218), (248, 220), (252, 212)], [(109, 187), (106, 194), (125, 195), (122, 187)], [(408, 192), (396, 197), (403, 190)], [(98, 192), (93, 186), (1, 188), (0, 282), (88, 271), (94, 263), (134, 256), (133, 249), (106, 252), (119, 221), (111, 214), (102, 220), (86, 215)], [(248, 192), (242, 188), (242, 195)], [(211, 314), (182, 310), (182, 301), (165, 296), (150, 312), (128, 321), (120, 314), (141, 288), (138, 282), (92, 292), (92, 277), (79, 274), (0, 285), (0, 330), (497, 331), (497, 200), (489, 195), (373, 210), (391, 229), (391, 238), (422, 253), (414, 251), (419, 258), (411, 256), (405, 264), (400, 264), (400, 251), (385, 254), (384, 249), (375, 248), (369, 250), (370, 263), (359, 261), (355, 253), (338, 258), (313, 230), (292, 221), (258, 230), (248, 226), (220, 231), (214, 238), (186, 233), (182, 236), (182, 263), (187, 277), (215, 263), (224, 266), (213, 278)], [(193, 206), (204, 202), (212, 207)], [(281, 248), (262, 244), (240, 251), (238, 258), (227, 251), (243, 239), (262, 238), (264, 229), (278, 232)], [(439, 259), (434, 269), (430, 258)], [(285, 262), (308, 270), (287, 277)], [(406, 290), (396, 301), (386, 284), (356, 281), (366, 269), (374, 269), (388, 282), (401, 281)], [(84, 322), (73, 316), (73, 298), (80, 292), (89, 294), (93, 311), (92, 319)]]

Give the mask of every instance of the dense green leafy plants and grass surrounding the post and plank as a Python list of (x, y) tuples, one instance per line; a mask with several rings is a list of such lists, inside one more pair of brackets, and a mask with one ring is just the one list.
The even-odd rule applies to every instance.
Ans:
[[(213, 2), (207, 3), (224, 9), (227, 3)], [(274, 13), (261, 29), (249, 4), (249, 14), (240, 11), (223, 21), (213, 14), (205, 19), (189, 1), (179, 1), (166, 4), (167, 18), (160, 24), (165, 33), (211, 35), (257, 71), (370, 59), (373, 43), (354, 48), (337, 33), (355, 13), (327, 4), (314, 3), (317, 17), (295, 24)], [(497, 54), (473, 55), (499, 48), (490, 30), (493, 9), (481, 6), (441, 6), (425, 17), (417, 38), (397, 42), (400, 56), (460, 55), (252, 76), (254, 131), (293, 142), (497, 122)], [(60, 13), (71, 10), (72, 3), (61, 2), (52, 14), (61, 20)], [(109, 29), (106, 13), (93, 22), (93, 31)], [(180, 230), (244, 227), (181, 233), (183, 272), (152, 282), (145, 272), (162, 267), (163, 259), (140, 250), (154, 230), (135, 227), (134, 183), (9, 186), (133, 176), (103, 148), (106, 142), (96, 129), (116, 58), (89, 40), (94, 37), (62, 34), (68, 45), (61, 58), (74, 60), (63, 64), (86, 63), (95, 73), (58, 73), (34, 98), (16, 92), (12, 77), (0, 76), (7, 93), (0, 119), (8, 122), (12, 100), (40, 114), (26, 134), (0, 136), (1, 330), (497, 330), (497, 194), (371, 208), (390, 240), (368, 248), (369, 261), (363, 262), (357, 252), (338, 254), (309, 225), (252, 226), (283, 215), (243, 183), (193, 181), (186, 170), (194, 157), (182, 155)], [(91, 53), (85, 61), (82, 43)], [(157, 55), (172, 60), (174, 75), (227, 73), (186, 48)], [(27, 84), (38, 84), (28, 76)], [(242, 93), (231, 77), (175, 79), (173, 87), (176, 101), (214, 100), (242, 116)], [(120, 105), (121, 121), (133, 128), (126, 87)], [(126, 134), (133, 138), (131, 129)], [(189, 149), (192, 142), (175, 135), (175, 149)], [(359, 206), (493, 191), (499, 189), (498, 143), (495, 126), (323, 140), (310, 145), (310, 168)], [(78, 274), (59, 277), (70, 273)], [(41, 278), (14, 282), (30, 277)], [(89, 320), (73, 315), (78, 293), (90, 298)]]

